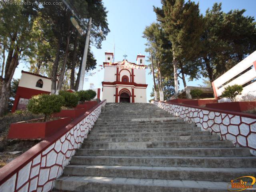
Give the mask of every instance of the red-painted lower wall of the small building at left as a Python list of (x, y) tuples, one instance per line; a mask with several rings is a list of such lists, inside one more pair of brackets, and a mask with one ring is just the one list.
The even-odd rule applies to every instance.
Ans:
[(43, 93), (50, 94), (51, 92), (18, 86), (14, 104), (12, 106), (12, 112), (15, 112), (20, 98), (30, 99), (34, 95), (39, 95), (39, 94), (43, 94)]

